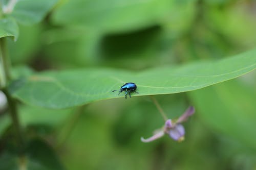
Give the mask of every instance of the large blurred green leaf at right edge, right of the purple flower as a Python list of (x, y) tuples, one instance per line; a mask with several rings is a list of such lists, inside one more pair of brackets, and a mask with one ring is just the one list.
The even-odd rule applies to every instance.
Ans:
[(256, 89), (232, 80), (189, 93), (204, 122), (256, 149)]

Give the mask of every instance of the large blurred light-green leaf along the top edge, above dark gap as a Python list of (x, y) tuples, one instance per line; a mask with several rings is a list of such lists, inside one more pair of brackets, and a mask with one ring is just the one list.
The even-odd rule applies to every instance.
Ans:
[(74, 0), (56, 9), (52, 20), (101, 32), (124, 32), (156, 25), (171, 8), (167, 0)]

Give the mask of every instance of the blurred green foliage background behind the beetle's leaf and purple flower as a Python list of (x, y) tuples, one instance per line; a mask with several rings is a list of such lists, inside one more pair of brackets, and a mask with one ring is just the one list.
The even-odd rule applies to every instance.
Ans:
[[(8, 45), (13, 67), (23, 74), (30, 72), (24, 65), (142, 70), (244, 52), (256, 46), (255, 30), (253, 0), (72, 0), (59, 1), (37, 25), (20, 25), (18, 40)], [(181, 143), (167, 136), (140, 141), (164, 124), (148, 96), (68, 110), (20, 104), (20, 119), (27, 138), (46, 140), (66, 169), (256, 169), (255, 87), (254, 71), (155, 96), (169, 118), (195, 106)], [(4, 136), (10, 120), (0, 116)]]

